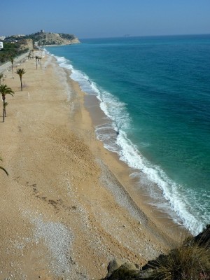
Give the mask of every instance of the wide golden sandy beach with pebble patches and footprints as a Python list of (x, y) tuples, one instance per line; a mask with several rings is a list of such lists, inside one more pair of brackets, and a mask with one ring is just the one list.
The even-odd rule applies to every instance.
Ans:
[[(36, 55), (36, 54), (34, 54)], [(85, 93), (46, 55), (22, 62), (0, 111), (0, 279), (101, 279), (113, 258), (144, 265), (180, 228), (148, 205), (94, 135)]]

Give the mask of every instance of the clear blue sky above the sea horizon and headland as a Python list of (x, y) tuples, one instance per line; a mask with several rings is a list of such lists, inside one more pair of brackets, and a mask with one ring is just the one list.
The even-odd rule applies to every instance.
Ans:
[(210, 34), (210, 0), (1, 0), (0, 36)]

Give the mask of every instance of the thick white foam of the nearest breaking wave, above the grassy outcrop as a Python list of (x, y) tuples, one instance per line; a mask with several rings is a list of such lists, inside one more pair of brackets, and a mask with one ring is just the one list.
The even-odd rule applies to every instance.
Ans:
[[(192, 201), (196, 201), (195, 198), (193, 199), (195, 197), (193, 190), (188, 190), (188, 188), (183, 188), (183, 186), (174, 183), (160, 167), (151, 165), (151, 162), (148, 162), (139, 153), (137, 147), (132, 144), (130, 139), (127, 139), (125, 133), (120, 134), (117, 143), (120, 146), (120, 159), (127, 162), (127, 165), (130, 167), (140, 169), (141, 172), (146, 174), (150, 182), (158, 185), (160, 190), (162, 190), (163, 197), (165, 197), (173, 211), (181, 218), (186, 228), (194, 234), (200, 232), (204, 227), (204, 223), (200, 222), (200, 214), (193, 211), (195, 204), (193, 207), (191, 206)], [(165, 206), (162, 209), (165, 209)], [(174, 218), (176, 223), (178, 222), (174, 215), (172, 215), (172, 218)], [(205, 218), (207, 221), (207, 217)]]

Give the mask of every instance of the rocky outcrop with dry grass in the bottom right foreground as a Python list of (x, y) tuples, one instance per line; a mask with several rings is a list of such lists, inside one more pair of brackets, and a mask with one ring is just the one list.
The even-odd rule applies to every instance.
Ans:
[(129, 260), (109, 262), (107, 275), (102, 280), (210, 280), (210, 225), (196, 237), (188, 237), (183, 245), (168, 255), (159, 255), (144, 267)]

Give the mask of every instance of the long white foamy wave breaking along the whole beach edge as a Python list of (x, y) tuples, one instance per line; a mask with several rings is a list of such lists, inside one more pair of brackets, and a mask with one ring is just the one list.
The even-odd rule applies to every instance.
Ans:
[[(167, 211), (170, 207), (172, 211), (168, 214), (171, 214), (176, 223), (180, 223), (181, 219), (182, 224), (190, 232), (193, 234), (200, 232), (208, 217), (204, 215), (203, 222), (201, 222), (200, 214), (195, 212), (195, 207), (197, 209), (200, 207), (200, 203), (196, 202), (196, 193), (174, 183), (159, 166), (152, 165), (141, 155), (139, 148), (127, 137), (132, 120), (127, 113), (126, 104), (94, 83), (85, 73), (74, 69), (71, 62), (65, 57), (55, 57), (59, 66), (71, 70), (71, 78), (79, 83), (83, 92), (95, 95), (99, 99), (100, 108), (108, 119), (105, 124), (95, 128), (97, 139), (103, 141), (104, 147), (109, 151), (118, 153), (120, 160), (126, 162), (128, 166), (139, 170), (132, 176), (139, 176), (139, 181), (148, 187), (148, 193), (156, 200), (155, 207), (162, 210), (167, 209)], [(161, 190), (162, 197), (167, 203), (157, 197), (156, 186)], [(193, 207), (191, 207), (192, 202), (194, 202)]]

